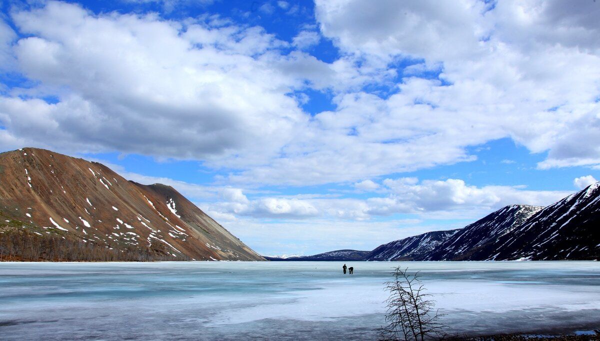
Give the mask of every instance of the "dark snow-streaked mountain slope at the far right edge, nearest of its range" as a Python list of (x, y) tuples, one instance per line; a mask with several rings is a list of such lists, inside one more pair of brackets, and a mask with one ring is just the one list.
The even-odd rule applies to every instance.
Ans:
[(600, 259), (600, 182), (544, 208), (472, 259)]

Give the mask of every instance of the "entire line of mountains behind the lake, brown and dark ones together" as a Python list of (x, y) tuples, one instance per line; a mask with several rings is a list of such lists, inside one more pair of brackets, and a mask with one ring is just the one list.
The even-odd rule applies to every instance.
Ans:
[(37, 148), (0, 154), (0, 261), (600, 259), (600, 183), (548, 207), (509, 205), (462, 229), (373, 251), (265, 257), (162, 184)]

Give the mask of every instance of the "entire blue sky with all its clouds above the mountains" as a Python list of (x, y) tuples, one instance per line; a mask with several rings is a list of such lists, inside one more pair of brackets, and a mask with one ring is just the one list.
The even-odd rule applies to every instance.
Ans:
[(175, 187), (262, 255), (600, 180), (600, 1), (0, 0), (0, 151)]

